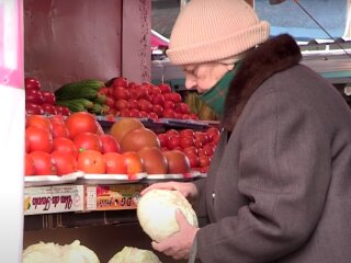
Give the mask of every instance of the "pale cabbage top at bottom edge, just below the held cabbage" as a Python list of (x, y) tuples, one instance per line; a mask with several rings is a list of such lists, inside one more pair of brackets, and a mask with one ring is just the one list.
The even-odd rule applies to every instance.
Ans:
[(124, 247), (109, 263), (161, 263), (157, 255), (149, 250)]

